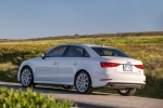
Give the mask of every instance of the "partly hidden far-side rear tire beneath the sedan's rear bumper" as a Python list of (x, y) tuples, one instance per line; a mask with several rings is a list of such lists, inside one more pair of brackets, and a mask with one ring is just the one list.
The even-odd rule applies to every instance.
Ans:
[(136, 89), (124, 89), (124, 90), (117, 90), (118, 94), (122, 96), (131, 96), (135, 94)]

